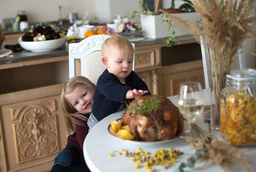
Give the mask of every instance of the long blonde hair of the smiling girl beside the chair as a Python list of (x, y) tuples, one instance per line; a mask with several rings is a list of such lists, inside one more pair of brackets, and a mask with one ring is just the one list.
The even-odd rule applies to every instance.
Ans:
[(68, 93), (72, 92), (72, 90), (76, 89), (79, 85), (83, 85), (86, 89), (92, 92), (92, 94), (94, 94), (95, 90), (95, 84), (84, 76), (74, 76), (73, 78), (68, 79), (65, 83), (61, 91), (61, 110), (63, 111), (68, 134), (73, 134), (76, 131), (75, 124), (84, 125), (83, 122), (76, 120), (76, 117), (84, 121), (88, 120), (88, 118), (79, 114), (76, 108), (69, 103), (66, 97)]

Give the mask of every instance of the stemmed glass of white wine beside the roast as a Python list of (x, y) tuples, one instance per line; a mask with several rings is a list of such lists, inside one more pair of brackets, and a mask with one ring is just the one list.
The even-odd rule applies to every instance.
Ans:
[(193, 138), (193, 123), (204, 110), (204, 92), (199, 82), (185, 82), (180, 85), (178, 107), (189, 122), (189, 136)]

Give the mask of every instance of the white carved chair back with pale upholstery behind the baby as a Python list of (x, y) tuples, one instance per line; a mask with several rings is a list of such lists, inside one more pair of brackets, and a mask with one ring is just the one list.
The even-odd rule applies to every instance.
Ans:
[[(111, 36), (97, 34), (90, 36), (79, 43), (70, 43), (68, 46), (69, 78), (85, 76), (93, 83), (97, 83), (99, 76), (106, 69), (101, 61), (102, 43)], [(132, 43), (134, 48), (134, 43)], [(135, 53), (132, 70), (135, 68)]]

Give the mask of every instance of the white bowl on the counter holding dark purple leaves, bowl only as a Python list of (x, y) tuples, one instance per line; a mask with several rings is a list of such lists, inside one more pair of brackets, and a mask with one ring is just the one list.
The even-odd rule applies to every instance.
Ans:
[(67, 42), (67, 36), (47, 41), (19, 41), (20, 47), (31, 52), (49, 52), (62, 47)]

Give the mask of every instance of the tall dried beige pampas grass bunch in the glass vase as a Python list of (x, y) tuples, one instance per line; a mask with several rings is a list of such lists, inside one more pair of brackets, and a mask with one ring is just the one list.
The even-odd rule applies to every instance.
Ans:
[[(212, 89), (216, 94), (214, 114), (220, 114), (220, 92), (225, 87), (225, 76), (246, 40), (256, 38), (256, 17), (252, 17), (255, 0), (194, 0), (193, 7), (201, 21), (195, 25), (188, 20), (166, 13), (172, 20), (188, 29), (200, 43), (204, 43), (211, 66), (211, 76), (216, 83)], [(250, 53), (253, 54), (253, 53)], [(255, 54), (254, 54), (255, 55)], [(213, 118), (220, 124), (220, 115)]]

